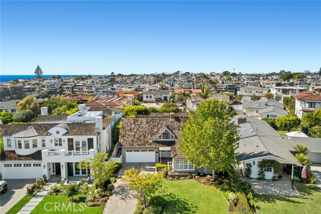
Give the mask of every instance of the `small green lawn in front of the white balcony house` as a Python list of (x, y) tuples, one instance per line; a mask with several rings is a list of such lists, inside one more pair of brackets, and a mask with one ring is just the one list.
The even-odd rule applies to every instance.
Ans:
[(75, 197), (79, 197), (79, 201), (69, 203), (68, 197), (65, 195), (47, 195), (31, 213), (102, 213), (104, 206), (87, 207), (84, 205), (86, 195), (76, 195)]

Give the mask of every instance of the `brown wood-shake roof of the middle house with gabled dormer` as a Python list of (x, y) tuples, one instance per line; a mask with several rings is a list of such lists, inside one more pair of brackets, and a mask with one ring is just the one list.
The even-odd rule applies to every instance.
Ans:
[[(182, 122), (189, 119), (189, 114), (176, 113), (175, 120), (170, 119), (169, 113), (151, 114), (137, 118), (122, 118), (119, 133), (119, 143), (123, 147), (145, 147), (145, 146), (175, 146), (179, 141)], [(173, 141), (153, 141), (161, 132), (169, 128), (173, 132)]]

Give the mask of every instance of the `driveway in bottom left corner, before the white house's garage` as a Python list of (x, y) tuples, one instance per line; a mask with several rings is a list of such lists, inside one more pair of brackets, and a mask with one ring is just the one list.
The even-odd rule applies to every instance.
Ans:
[(21, 198), (26, 195), (27, 186), (35, 183), (36, 179), (10, 179), (8, 182), (8, 192), (1, 193), (0, 213), (6, 213)]

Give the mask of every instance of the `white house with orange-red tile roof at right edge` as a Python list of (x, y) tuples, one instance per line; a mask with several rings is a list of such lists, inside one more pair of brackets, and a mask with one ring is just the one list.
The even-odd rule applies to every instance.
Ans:
[(302, 118), (304, 114), (312, 114), (321, 109), (321, 93), (307, 91), (293, 97), (295, 98), (295, 115), (299, 118)]

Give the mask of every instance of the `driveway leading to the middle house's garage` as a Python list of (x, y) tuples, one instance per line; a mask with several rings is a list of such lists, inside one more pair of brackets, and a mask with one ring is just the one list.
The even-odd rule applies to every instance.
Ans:
[[(103, 214), (132, 214), (136, 210), (136, 198), (133, 197), (133, 192), (127, 187), (126, 183), (120, 179), (124, 175), (124, 171), (131, 168), (138, 170), (146, 170), (146, 163), (124, 163), (118, 172), (118, 177), (114, 183), (114, 190), (109, 197)], [(155, 166), (155, 163), (148, 163), (148, 166)], [(148, 170), (148, 168), (147, 168)], [(154, 169), (151, 169), (154, 171)]]

